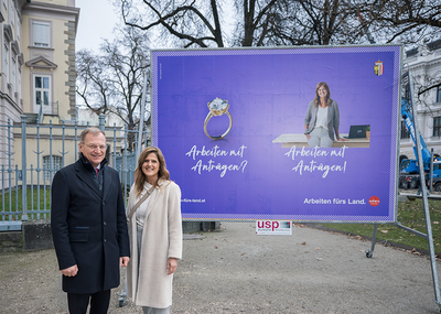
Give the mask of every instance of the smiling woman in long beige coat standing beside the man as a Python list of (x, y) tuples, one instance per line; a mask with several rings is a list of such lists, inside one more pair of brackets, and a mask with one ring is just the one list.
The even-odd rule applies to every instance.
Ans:
[[(135, 175), (127, 208), (128, 293), (144, 313), (170, 313), (173, 272), (182, 258), (181, 190), (170, 181), (158, 148), (142, 151)], [(150, 195), (142, 201), (146, 194)]]

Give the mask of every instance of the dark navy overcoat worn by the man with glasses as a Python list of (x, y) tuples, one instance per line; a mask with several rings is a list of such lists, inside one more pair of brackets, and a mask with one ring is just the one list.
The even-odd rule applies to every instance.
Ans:
[(51, 226), (58, 266), (78, 267), (75, 277), (63, 275), (63, 290), (69, 293), (118, 286), (119, 258), (130, 256), (118, 173), (101, 163), (99, 185), (93, 171), (82, 158), (57, 171), (52, 185)]

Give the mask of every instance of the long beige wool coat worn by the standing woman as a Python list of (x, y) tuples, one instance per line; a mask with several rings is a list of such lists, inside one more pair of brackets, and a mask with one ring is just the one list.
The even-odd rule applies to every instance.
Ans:
[[(144, 185), (143, 192), (136, 197), (133, 186), (128, 213), (149, 190)], [(164, 308), (172, 305), (173, 274), (166, 274), (168, 259), (182, 258), (181, 188), (174, 182), (160, 180), (148, 205), (144, 202), (137, 210), (141, 206), (147, 206), (150, 214), (144, 223), (139, 268), (136, 214), (128, 221), (131, 252), (127, 267), (128, 295), (136, 305)]]

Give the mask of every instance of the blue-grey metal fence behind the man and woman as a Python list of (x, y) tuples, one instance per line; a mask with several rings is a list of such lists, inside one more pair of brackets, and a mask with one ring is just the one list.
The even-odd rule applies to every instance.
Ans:
[[(77, 160), (80, 131), (89, 127), (72, 124), (30, 124), (26, 116), (21, 123), (0, 124), (0, 231), (21, 228), (21, 221), (49, 219), (51, 190), (54, 174)], [(128, 147), (128, 137), (138, 148), (138, 130), (105, 127), (105, 117), (99, 117), (99, 129), (105, 131), (109, 149), (106, 158), (119, 173), (123, 196), (135, 178), (135, 153)], [(147, 147), (148, 130), (143, 130)], [(135, 150), (133, 150), (135, 151)]]

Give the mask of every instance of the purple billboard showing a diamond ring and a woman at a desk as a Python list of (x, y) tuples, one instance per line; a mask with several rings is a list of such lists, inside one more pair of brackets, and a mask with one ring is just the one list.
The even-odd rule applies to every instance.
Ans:
[(152, 51), (184, 219), (395, 221), (401, 46)]

